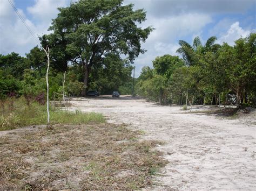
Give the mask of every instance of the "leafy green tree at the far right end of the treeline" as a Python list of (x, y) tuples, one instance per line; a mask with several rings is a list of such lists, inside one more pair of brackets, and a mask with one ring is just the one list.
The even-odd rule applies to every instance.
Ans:
[[(247, 90), (255, 89), (256, 83), (256, 33), (235, 41), (234, 47), (224, 44), (219, 49), (218, 60), (225, 70), (228, 87), (237, 96), (239, 108)], [(243, 95), (244, 94), (244, 95)]]

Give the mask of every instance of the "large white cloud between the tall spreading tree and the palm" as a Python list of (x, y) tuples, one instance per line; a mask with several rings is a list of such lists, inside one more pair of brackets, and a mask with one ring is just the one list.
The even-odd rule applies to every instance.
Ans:
[(153, 26), (155, 30), (150, 34), (143, 48), (147, 49), (145, 54), (139, 55), (134, 61), (136, 66), (136, 77), (139, 76), (143, 66), (152, 67), (152, 60), (164, 54), (178, 55), (178, 39), (184, 36), (200, 34), (205, 25), (212, 22), (212, 18), (206, 14), (186, 13), (168, 18), (152, 18), (143, 24), (143, 27)]

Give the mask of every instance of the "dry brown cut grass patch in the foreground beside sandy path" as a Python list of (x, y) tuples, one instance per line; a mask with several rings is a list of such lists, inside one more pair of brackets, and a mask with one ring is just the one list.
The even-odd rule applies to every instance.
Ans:
[(0, 189), (140, 189), (166, 164), (124, 125), (55, 125), (0, 134)]

